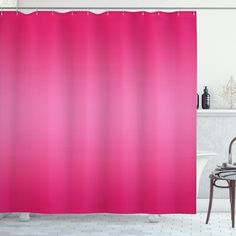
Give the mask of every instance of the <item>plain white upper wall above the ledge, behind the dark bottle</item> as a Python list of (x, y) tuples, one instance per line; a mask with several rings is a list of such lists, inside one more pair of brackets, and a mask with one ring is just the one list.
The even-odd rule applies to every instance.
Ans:
[(197, 23), (198, 91), (208, 85), (211, 107), (229, 108), (220, 94), (230, 76), (236, 81), (236, 10), (200, 11)]

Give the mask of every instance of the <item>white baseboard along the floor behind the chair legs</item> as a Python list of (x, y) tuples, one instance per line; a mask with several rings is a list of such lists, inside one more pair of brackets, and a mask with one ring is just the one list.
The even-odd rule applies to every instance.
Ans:
[[(207, 212), (209, 199), (197, 199), (197, 212)], [(213, 199), (212, 212), (229, 212), (229, 199)]]

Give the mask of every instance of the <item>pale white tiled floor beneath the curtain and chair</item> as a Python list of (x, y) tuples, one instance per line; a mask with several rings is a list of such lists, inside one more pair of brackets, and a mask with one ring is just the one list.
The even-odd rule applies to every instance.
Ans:
[(230, 236), (230, 213), (162, 215), (150, 223), (146, 215), (34, 215), (30, 222), (19, 222), (16, 215), (0, 220), (0, 236)]

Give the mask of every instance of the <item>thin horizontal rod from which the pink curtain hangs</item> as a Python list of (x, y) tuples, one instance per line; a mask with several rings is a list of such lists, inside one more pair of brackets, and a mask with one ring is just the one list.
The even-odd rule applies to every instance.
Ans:
[(0, 7), (2, 10), (236, 10), (235, 7)]

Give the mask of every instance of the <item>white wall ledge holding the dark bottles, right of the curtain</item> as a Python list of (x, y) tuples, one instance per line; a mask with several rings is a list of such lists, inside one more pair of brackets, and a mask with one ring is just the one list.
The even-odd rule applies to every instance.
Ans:
[(216, 117), (228, 117), (228, 116), (235, 116), (236, 117), (236, 109), (209, 109), (197, 110), (198, 117), (209, 117), (209, 116), (216, 116)]

